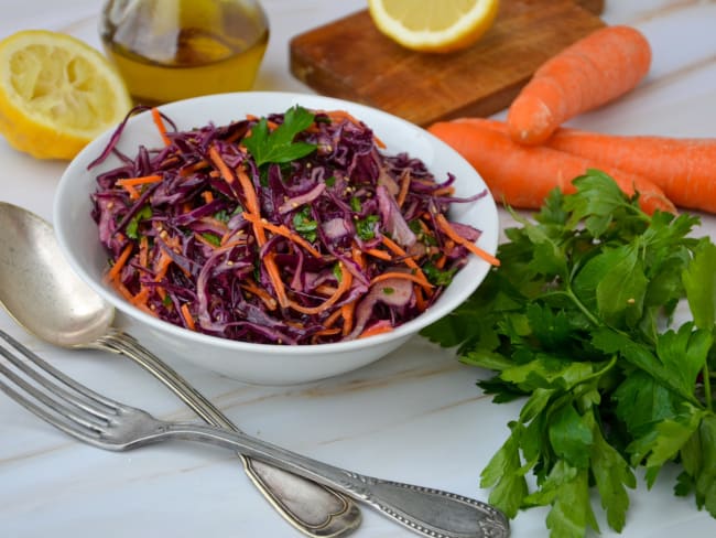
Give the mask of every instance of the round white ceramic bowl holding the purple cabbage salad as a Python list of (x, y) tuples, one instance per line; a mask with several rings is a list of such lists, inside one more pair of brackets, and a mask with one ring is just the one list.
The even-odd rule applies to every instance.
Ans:
[[(162, 107), (180, 129), (208, 123), (225, 125), (246, 114), (263, 116), (282, 112), (293, 105), (314, 109), (345, 109), (365, 121), (387, 144), (389, 154), (406, 151), (421, 159), (438, 181), (447, 172), (456, 175), (456, 194), (473, 195), (485, 183), (475, 170), (453, 149), (408, 121), (389, 114), (339, 99), (288, 93), (238, 93), (198, 97)], [(87, 171), (87, 165), (106, 147), (111, 132), (106, 132), (85, 148), (62, 176), (54, 205), (54, 225), (59, 247), (69, 263), (95, 291), (127, 314), (142, 329), (142, 334), (155, 342), (145, 342), (169, 354), (183, 357), (238, 380), (288, 385), (316, 380), (367, 365), (395, 349), (421, 329), (444, 316), (479, 286), (489, 266), (471, 256), (456, 275), (438, 301), (419, 318), (367, 338), (334, 344), (281, 346), (235, 342), (192, 332), (158, 320), (126, 302), (102, 282), (107, 255), (99, 243), (97, 227), (90, 217), (89, 195), (95, 191), (98, 172), (115, 168), (118, 161), (108, 159), (101, 166)], [(161, 139), (149, 114), (137, 115), (127, 125), (119, 148), (134, 154), (140, 143), (158, 147)], [(498, 243), (498, 214), (488, 195), (470, 204), (455, 204), (451, 218), (469, 223), (482, 230), (478, 245), (495, 254)], [(167, 355), (169, 356), (169, 355)]]

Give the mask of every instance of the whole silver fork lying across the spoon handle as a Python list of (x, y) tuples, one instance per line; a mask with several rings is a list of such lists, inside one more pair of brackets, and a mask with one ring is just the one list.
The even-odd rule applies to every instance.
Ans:
[(430, 538), (509, 536), (495, 507), (454, 493), (365, 476), (296, 454), (245, 433), (210, 426), (159, 420), (101, 396), (57, 370), (0, 331), (0, 389), (55, 428), (110, 451), (167, 440), (198, 441), (239, 451), (338, 489)]

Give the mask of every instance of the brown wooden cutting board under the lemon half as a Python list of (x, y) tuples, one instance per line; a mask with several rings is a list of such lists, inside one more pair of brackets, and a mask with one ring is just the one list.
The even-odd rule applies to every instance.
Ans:
[(451, 54), (409, 51), (368, 11), (290, 42), (292, 74), (317, 93), (362, 103), (420, 126), (505, 109), (534, 71), (605, 25), (603, 0), (501, 0), (492, 28)]

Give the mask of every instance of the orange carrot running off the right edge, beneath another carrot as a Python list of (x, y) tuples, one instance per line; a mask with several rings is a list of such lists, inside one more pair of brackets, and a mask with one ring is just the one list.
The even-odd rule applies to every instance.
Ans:
[[(488, 118), (459, 118), (507, 132)], [(657, 184), (677, 207), (716, 213), (716, 138), (607, 134), (560, 128), (544, 146), (639, 174)]]

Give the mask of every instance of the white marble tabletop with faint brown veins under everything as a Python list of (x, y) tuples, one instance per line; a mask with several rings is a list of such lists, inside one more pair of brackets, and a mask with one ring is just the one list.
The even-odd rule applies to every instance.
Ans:
[[(99, 0), (0, 0), (0, 36), (20, 29), (68, 31), (94, 45)], [(365, 6), (361, 0), (263, 0), (272, 36), (257, 89), (310, 92), (288, 69), (288, 40)], [(714, 136), (716, 1), (607, 0), (604, 19), (629, 23), (650, 39), (654, 61), (629, 97), (574, 126), (607, 132)], [(65, 164), (40, 162), (0, 140), (0, 200), (52, 217)], [(507, 219), (505, 220), (507, 225)], [(701, 230), (716, 233), (704, 216)], [(0, 312), (14, 334), (63, 369), (109, 395), (165, 418), (191, 411), (127, 359), (53, 348)], [(480, 395), (478, 370), (417, 338), (370, 367), (299, 387), (254, 387), (167, 361), (246, 431), (327, 462), (376, 476), (421, 483), (477, 498), (479, 473), (507, 434), (517, 406)], [(623, 536), (716, 536), (716, 520), (693, 499), (672, 495), (665, 472), (652, 491), (632, 496)], [(512, 523), (518, 538), (546, 536), (544, 512)], [(604, 519), (604, 536), (612, 536)], [(242, 475), (228, 452), (172, 444), (110, 453), (76, 443), (0, 397), (0, 536), (150, 538), (172, 536), (297, 537)], [(366, 510), (359, 537), (411, 532)]]

